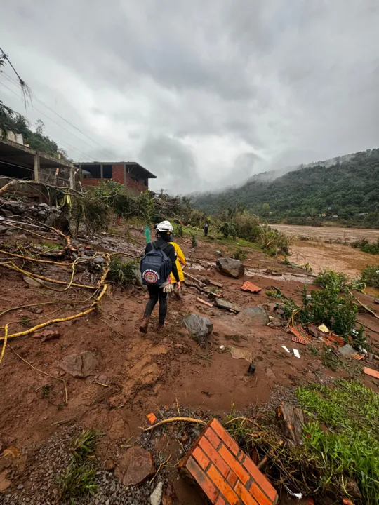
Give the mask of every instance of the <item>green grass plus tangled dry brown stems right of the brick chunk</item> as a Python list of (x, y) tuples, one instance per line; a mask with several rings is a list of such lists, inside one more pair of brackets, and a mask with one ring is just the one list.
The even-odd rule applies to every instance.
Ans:
[(339, 379), (328, 386), (300, 387), (297, 396), (309, 417), (300, 447), (283, 443), (274, 412), (267, 410), (261, 416), (258, 410), (254, 421), (232, 410), (225, 426), (249, 455), (269, 455), (270, 475), (278, 485), (317, 503), (350, 497), (354, 503), (378, 505), (378, 395), (357, 381)]

